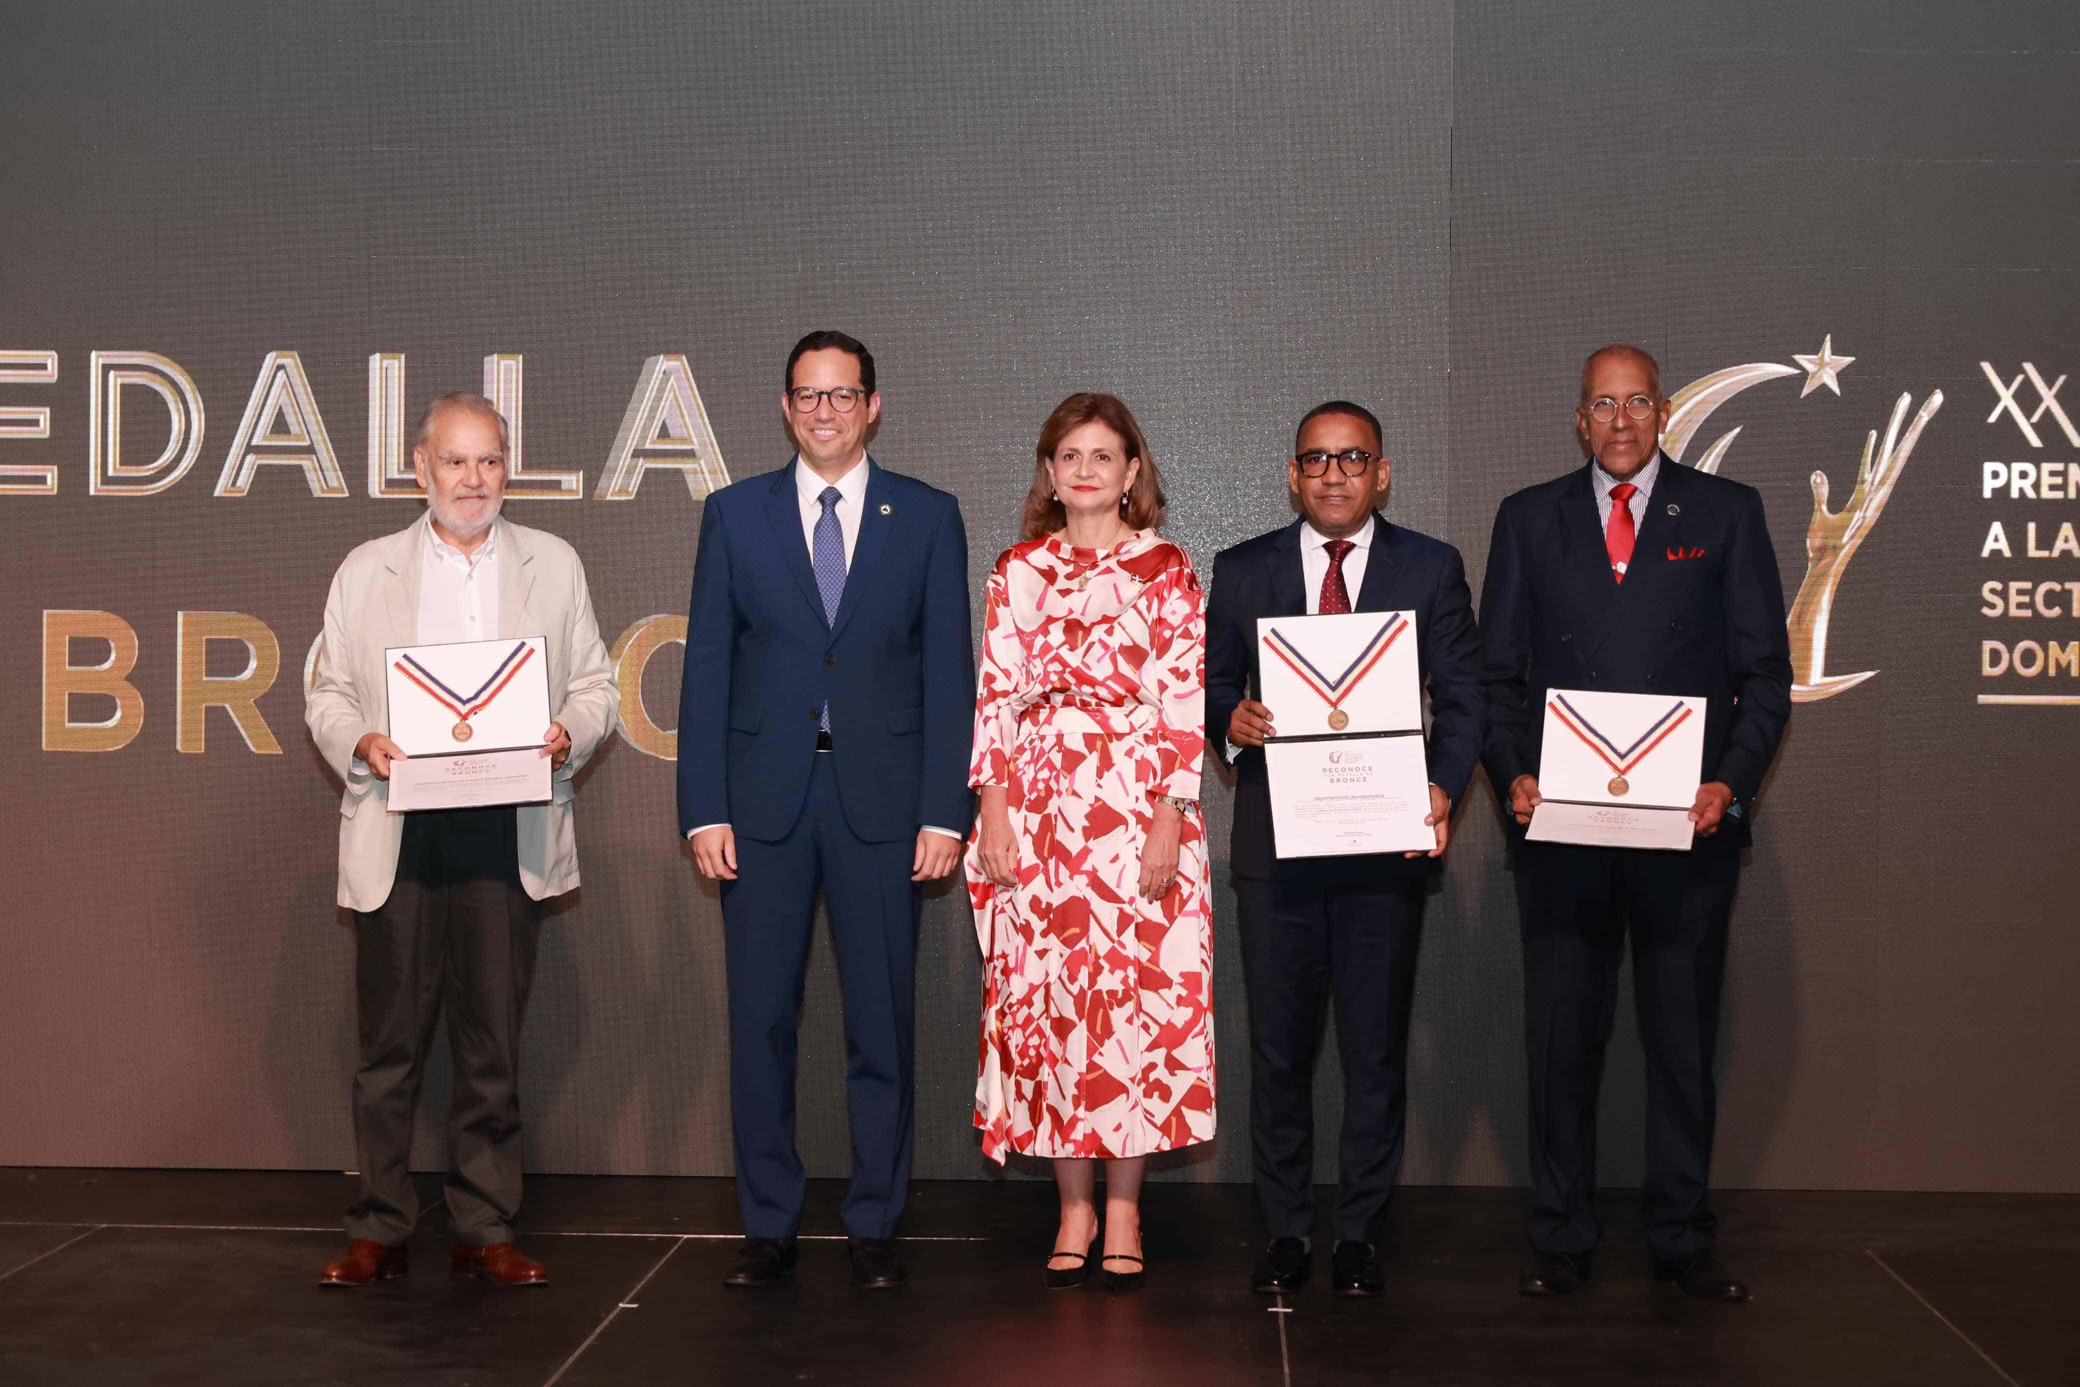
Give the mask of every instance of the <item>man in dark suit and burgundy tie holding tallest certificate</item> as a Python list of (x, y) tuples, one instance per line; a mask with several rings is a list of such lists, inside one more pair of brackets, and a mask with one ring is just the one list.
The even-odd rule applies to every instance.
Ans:
[[(1458, 549), (1387, 524), (1394, 466), (1379, 420), (1335, 399), (1300, 420), (1285, 485), (1300, 520), (1213, 561), (1206, 603), (1206, 744), (1236, 767), (1229, 867), (1250, 996), (1250, 1167), (1271, 1233), (1254, 1287), (1298, 1291), (1315, 1229), (1315, 1052), (1335, 998), (1344, 1061), (1342, 1185), (1331, 1273), (1344, 1296), (1377, 1296), (1379, 1216), (1402, 1164), (1408, 1004), (1425, 886), (1452, 832), (1452, 805), (1481, 759), (1481, 638)], [(1416, 613), (1416, 663), (1431, 701), (1429, 778), (1437, 850), (1279, 861), (1265, 738), (1304, 709), (1256, 695), (1256, 620), (1340, 611)]]

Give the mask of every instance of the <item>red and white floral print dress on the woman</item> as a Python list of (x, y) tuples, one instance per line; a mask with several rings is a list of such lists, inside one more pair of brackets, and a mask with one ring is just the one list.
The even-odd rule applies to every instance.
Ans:
[[(973, 786), (1005, 786), (1019, 884), (967, 890), (982, 944), (976, 1127), (996, 1162), (1213, 1137), (1213, 896), (1198, 774), (1204, 597), (1152, 530), (996, 559)], [(1138, 892), (1154, 796), (1194, 801), (1177, 882)]]

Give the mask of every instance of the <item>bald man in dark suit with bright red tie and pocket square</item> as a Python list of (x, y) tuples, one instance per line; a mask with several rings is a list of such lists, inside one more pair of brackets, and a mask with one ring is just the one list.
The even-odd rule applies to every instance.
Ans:
[[(1595, 1098), (1629, 932), (1656, 1275), (1704, 1300), (1747, 1300), (1712, 1260), (1712, 1054), (1741, 848), (1791, 717), (1791, 645), (1762, 497), (1670, 462), (1666, 424), (1652, 356), (1591, 354), (1575, 410), (1587, 466), (1508, 497), (1487, 549), (1485, 763), (1514, 819), (1531, 1063), (1525, 1296), (1577, 1289), (1602, 1235)], [(1548, 688), (1708, 699), (1689, 853), (1525, 840)]]

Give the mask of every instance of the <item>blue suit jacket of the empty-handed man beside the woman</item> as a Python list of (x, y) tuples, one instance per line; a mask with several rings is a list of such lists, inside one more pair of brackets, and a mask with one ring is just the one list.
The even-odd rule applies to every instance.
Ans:
[(678, 695), (678, 828), (778, 840), (801, 817), (830, 701), (853, 834), (965, 834), (976, 724), (959, 503), (867, 457), (838, 616), (824, 622), (790, 462), (707, 497)]

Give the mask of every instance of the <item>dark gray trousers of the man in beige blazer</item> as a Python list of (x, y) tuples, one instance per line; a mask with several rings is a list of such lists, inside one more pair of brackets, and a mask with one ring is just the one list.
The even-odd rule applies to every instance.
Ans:
[(418, 1223), (412, 1115), (447, 1006), (453, 1098), (447, 1212), (456, 1241), (512, 1241), (520, 1212), (520, 1013), (535, 979), (541, 902), (520, 888), (512, 809), (406, 815), (397, 882), (354, 913), (362, 1063), (354, 1075), (360, 1187), (347, 1237), (395, 1248)]

